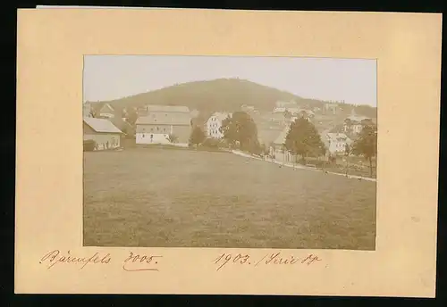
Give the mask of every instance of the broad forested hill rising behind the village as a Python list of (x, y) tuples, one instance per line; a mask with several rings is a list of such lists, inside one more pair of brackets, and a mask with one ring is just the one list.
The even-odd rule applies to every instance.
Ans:
[[(92, 103), (97, 104), (97, 107), (109, 103), (116, 110), (144, 104), (180, 104), (190, 107), (190, 110), (197, 109), (201, 112), (234, 112), (239, 111), (242, 104), (249, 104), (261, 112), (269, 112), (273, 110), (275, 102), (291, 100), (309, 107), (323, 107), (324, 104), (319, 100), (302, 98), (245, 79), (194, 81), (112, 101)], [(375, 112), (375, 108), (370, 109)]]

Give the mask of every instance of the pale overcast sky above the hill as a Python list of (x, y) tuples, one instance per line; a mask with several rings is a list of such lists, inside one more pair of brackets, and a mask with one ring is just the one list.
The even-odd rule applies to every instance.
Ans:
[(375, 60), (162, 55), (86, 55), (84, 101), (220, 78), (249, 79), (305, 98), (377, 105)]

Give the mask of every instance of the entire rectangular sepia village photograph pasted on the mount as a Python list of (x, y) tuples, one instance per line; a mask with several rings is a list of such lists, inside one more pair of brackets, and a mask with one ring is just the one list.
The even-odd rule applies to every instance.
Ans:
[(375, 250), (375, 59), (83, 65), (84, 246)]

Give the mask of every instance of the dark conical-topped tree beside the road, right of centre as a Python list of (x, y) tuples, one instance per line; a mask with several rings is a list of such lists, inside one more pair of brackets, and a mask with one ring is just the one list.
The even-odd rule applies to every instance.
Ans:
[(299, 118), (291, 123), (284, 146), (291, 154), (299, 154), (303, 162), (306, 162), (309, 154), (314, 156), (325, 154), (325, 144), (318, 131), (314, 124), (305, 118)]

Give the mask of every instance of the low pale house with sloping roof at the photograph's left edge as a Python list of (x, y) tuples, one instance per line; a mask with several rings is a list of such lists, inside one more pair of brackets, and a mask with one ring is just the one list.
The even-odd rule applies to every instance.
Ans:
[(106, 119), (83, 119), (84, 141), (95, 141), (95, 150), (114, 149), (121, 146), (122, 131)]

